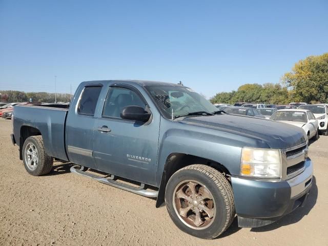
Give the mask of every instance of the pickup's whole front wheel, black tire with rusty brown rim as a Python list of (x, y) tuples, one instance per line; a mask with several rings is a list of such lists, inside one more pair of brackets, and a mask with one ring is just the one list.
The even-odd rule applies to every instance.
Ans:
[(235, 217), (230, 183), (205, 165), (187, 166), (174, 173), (166, 187), (165, 202), (176, 226), (199, 238), (219, 236)]

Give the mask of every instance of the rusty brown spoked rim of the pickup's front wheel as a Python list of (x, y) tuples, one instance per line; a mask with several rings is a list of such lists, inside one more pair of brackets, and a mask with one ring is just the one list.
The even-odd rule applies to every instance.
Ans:
[(173, 207), (179, 219), (192, 229), (206, 229), (215, 218), (215, 202), (211, 192), (195, 180), (184, 180), (176, 186)]

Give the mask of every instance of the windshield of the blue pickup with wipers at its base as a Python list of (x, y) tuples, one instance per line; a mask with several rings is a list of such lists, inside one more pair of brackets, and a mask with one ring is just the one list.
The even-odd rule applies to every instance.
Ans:
[(218, 109), (207, 99), (184, 86), (154, 85), (145, 86), (161, 113), (172, 118), (193, 112), (213, 113)]

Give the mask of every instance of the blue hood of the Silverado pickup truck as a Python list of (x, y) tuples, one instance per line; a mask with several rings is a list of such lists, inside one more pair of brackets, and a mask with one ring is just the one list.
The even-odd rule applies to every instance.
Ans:
[(180, 122), (258, 139), (272, 149), (286, 149), (306, 141), (305, 132), (298, 127), (257, 117), (222, 114), (186, 117)]

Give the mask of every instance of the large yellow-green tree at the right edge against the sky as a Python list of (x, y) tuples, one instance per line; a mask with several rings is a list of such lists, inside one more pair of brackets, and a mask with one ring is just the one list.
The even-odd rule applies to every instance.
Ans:
[(298, 61), (282, 81), (292, 90), (294, 101), (328, 103), (328, 53)]

